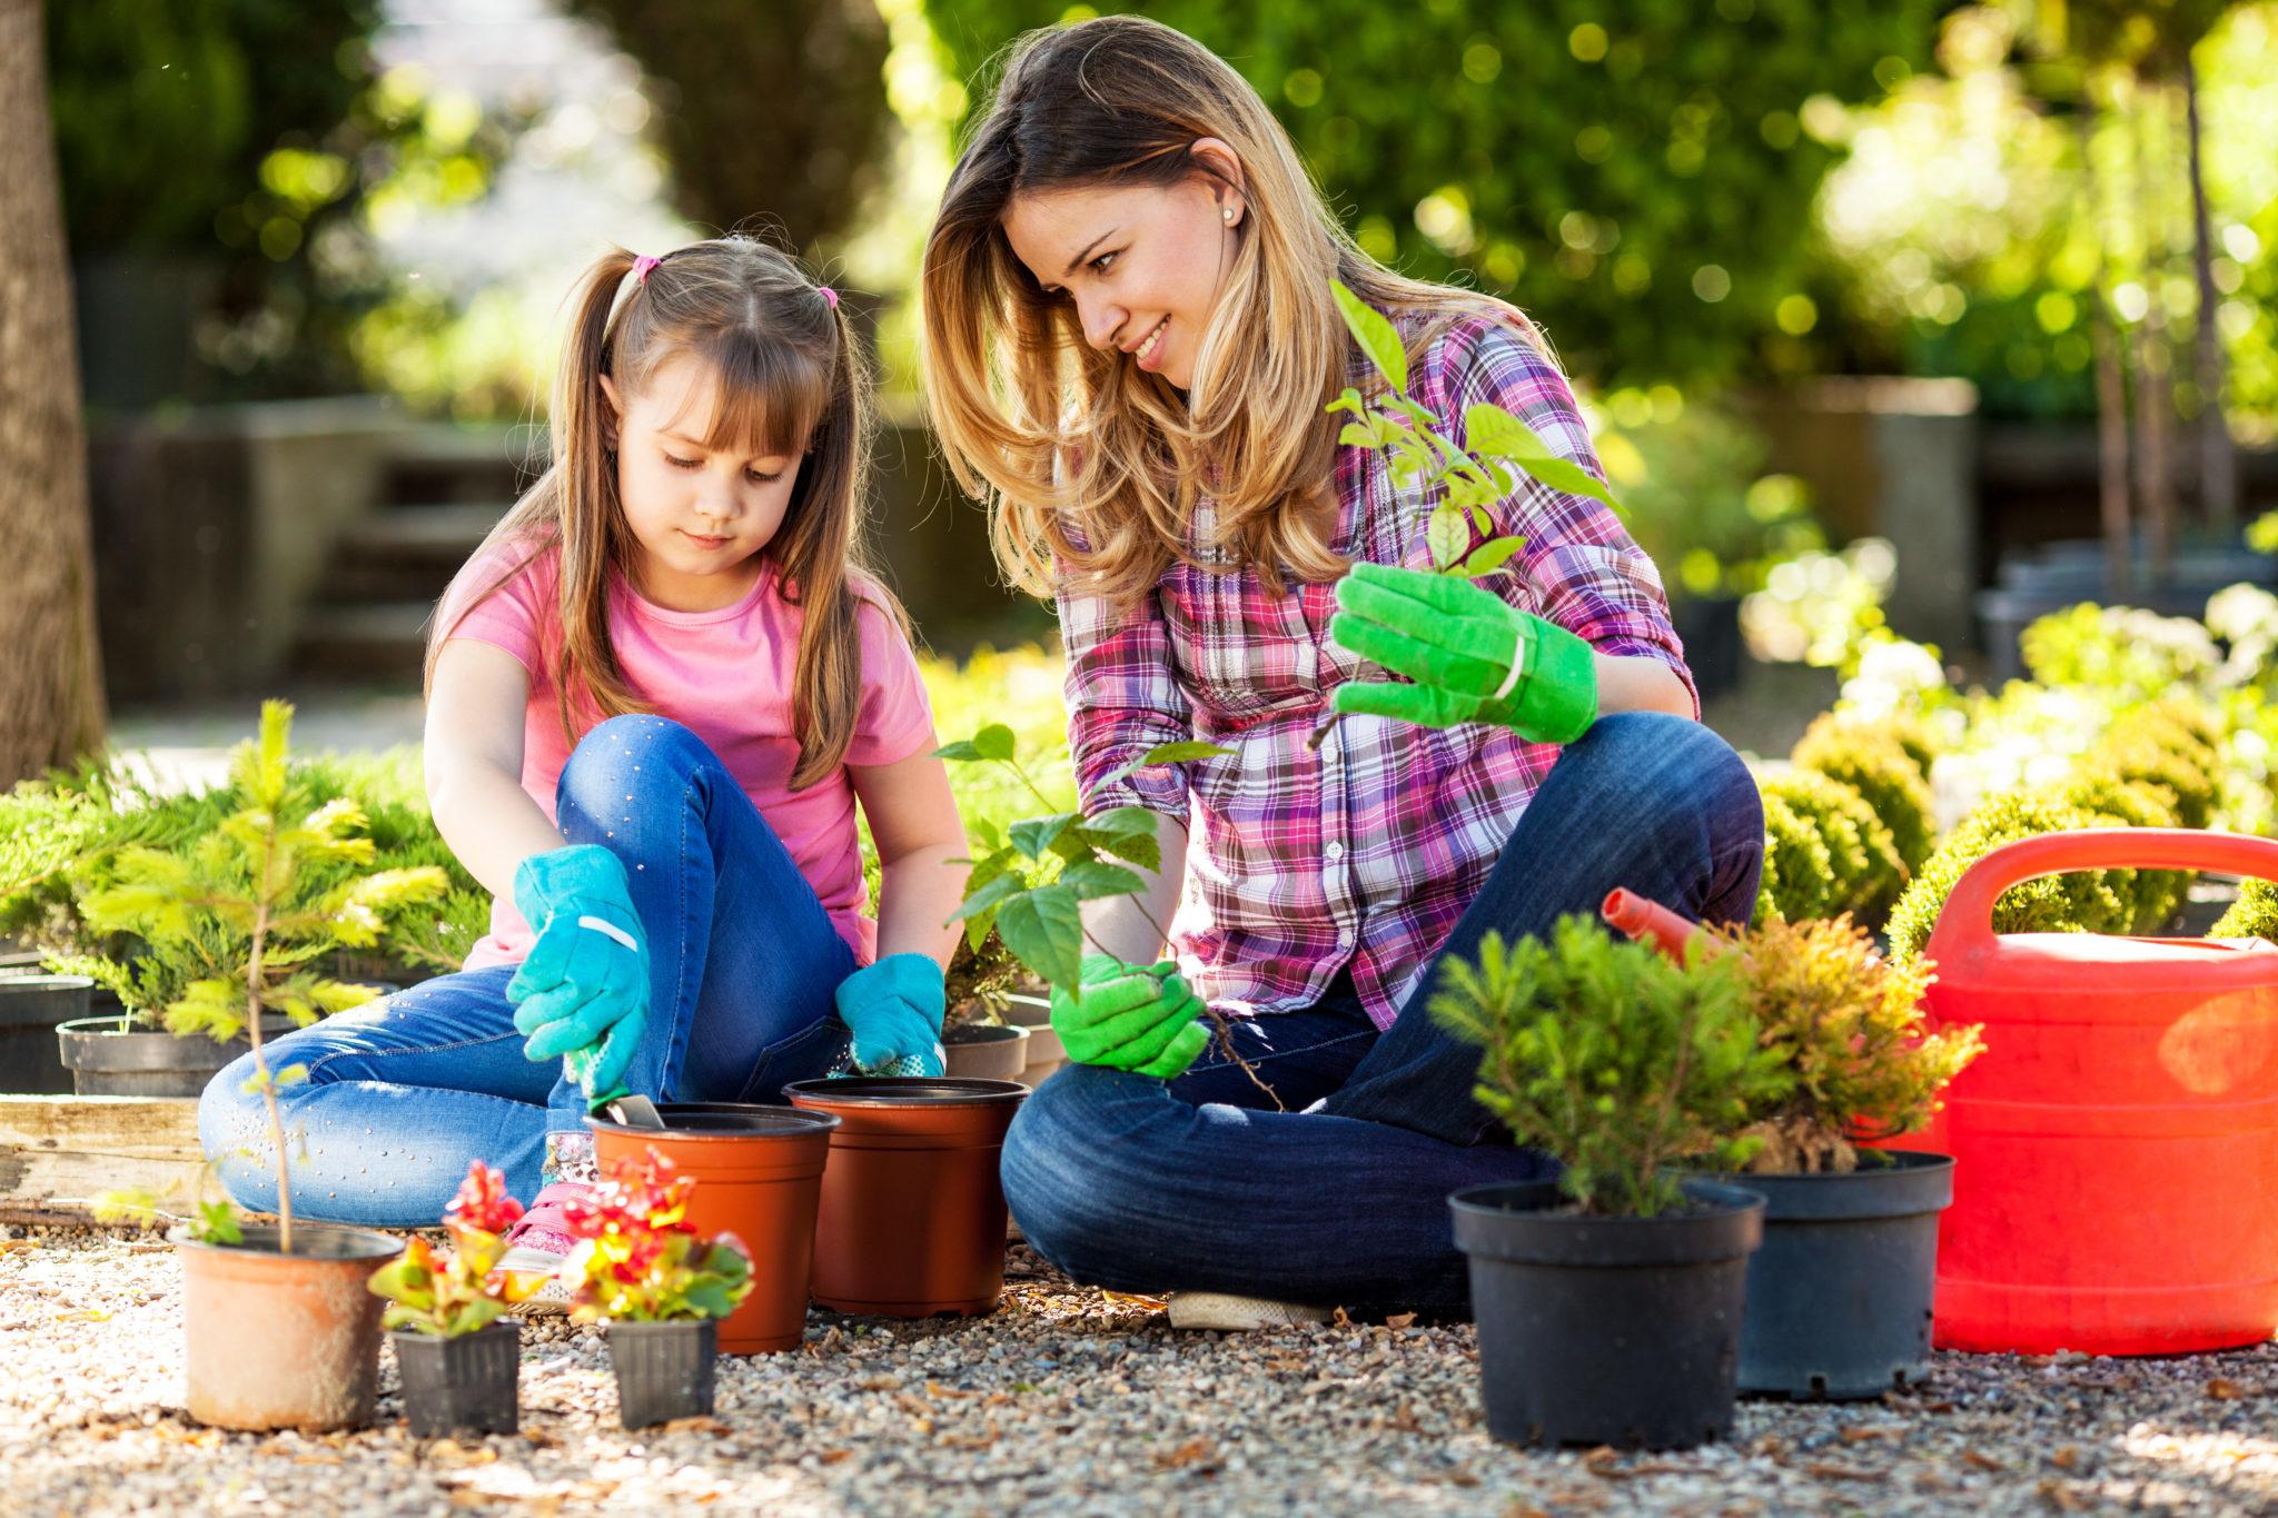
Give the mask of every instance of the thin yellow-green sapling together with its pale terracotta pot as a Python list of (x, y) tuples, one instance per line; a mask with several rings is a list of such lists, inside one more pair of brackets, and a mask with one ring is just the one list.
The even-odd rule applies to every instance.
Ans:
[[(339, 1429), (371, 1420), (380, 1302), (367, 1281), (401, 1249), (385, 1234), (294, 1224), (292, 1215), (278, 1090), (303, 1072), (269, 1065), (260, 1015), (267, 1008), (310, 1022), (319, 988), (294, 949), (273, 956), (271, 944), (353, 942), (396, 892), (421, 883), (380, 874), (312, 890), (314, 865), (367, 858), (369, 842), (351, 833), (353, 806), (287, 812), (289, 728), (292, 708), (264, 703), (260, 740), (241, 744), (232, 762), (241, 808), (189, 853), (121, 851), (114, 894), (96, 908), (144, 922), (153, 942), (244, 933), (241, 963), (216, 965), (216, 974), (191, 981), (166, 1008), (169, 1026), (182, 1036), (228, 1038), (248, 1029), (251, 1086), (269, 1111), (278, 1222), (237, 1227), (235, 1238), (210, 1229), (178, 1234), (187, 1406), (191, 1418), (230, 1429)], [(248, 1334), (246, 1325), (262, 1331)]]

